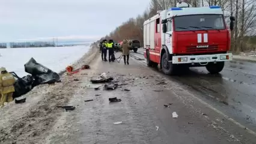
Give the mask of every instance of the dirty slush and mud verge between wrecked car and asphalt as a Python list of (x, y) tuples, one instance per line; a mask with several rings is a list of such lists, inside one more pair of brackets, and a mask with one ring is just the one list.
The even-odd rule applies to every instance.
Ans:
[[(98, 55), (99, 49), (92, 46), (87, 54), (73, 65), (75, 68), (90, 64)], [(26, 103), (8, 104), (0, 109), (0, 143), (40, 143), (55, 125), (56, 118), (63, 110), (56, 106), (63, 106), (75, 95), (79, 89), (78, 81), (84, 74), (61, 77), (61, 83), (54, 85), (40, 85), (26, 94)]]

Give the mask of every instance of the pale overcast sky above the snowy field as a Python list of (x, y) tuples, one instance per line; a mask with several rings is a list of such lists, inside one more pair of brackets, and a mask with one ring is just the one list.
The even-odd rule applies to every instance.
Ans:
[(148, 5), (149, 0), (0, 0), (0, 41), (102, 37)]

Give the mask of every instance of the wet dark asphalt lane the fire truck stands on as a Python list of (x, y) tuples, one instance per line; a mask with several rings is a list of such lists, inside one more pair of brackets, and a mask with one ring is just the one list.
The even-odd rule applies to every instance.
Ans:
[[(138, 53), (132, 52), (131, 55), (142, 59), (142, 53), (143, 49), (139, 49)], [(145, 62), (141, 61), (142, 64)], [(209, 74), (206, 68), (198, 67), (190, 68), (180, 76), (165, 77), (180, 83), (210, 106), (256, 132), (255, 63), (226, 62), (224, 70), (218, 75)]]

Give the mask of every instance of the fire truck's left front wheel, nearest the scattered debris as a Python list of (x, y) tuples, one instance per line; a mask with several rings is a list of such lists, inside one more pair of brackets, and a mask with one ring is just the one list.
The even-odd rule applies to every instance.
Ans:
[(162, 64), (163, 73), (174, 74), (174, 64), (171, 64), (170, 62), (168, 62), (167, 53), (163, 53), (161, 64)]

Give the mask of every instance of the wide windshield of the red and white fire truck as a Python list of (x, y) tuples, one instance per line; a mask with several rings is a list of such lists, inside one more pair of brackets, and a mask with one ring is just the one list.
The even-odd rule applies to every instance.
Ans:
[(174, 17), (175, 31), (225, 29), (222, 14), (197, 14)]

